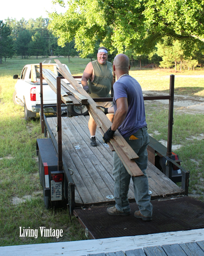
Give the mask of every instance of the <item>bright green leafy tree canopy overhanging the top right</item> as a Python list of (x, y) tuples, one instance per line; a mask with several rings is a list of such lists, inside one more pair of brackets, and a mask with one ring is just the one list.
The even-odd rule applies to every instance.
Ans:
[[(56, 0), (64, 5), (63, 0)], [(203, 0), (68, 0), (64, 14), (50, 13), (49, 29), (58, 44), (75, 38), (85, 57), (100, 40), (111, 52), (148, 54), (164, 36), (186, 51), (204, 41)]]

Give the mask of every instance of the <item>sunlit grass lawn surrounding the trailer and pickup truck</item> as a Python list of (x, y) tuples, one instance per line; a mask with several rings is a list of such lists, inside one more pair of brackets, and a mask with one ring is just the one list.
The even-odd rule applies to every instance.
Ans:
[[(24, 109), (14, 105), (12, 94), (16, 80), (27, 63), (43, 62), (45, 58), (13, 58), (0, 65), (0, 246), (50, 243), (84, 240), (84, 230), (75, 218), (70, 223), (66, 209), (46, 210), (43, 203), (42, 188), (39, 183), (36, 139), (43, 138), (39, 117), (26, 122)], [(90, 59), (60, 58), (67, 64), (72, 75), (82, 75)], [(52, 59), (54, 63), (54, 58)], [(171, 71), (172, 72), (172, 71)], [(168, 92), (168, 70), (137, 70), (130, 74), (141, 84), (143, 90)], [(204, 97), (201, 69), (175, 74), (175, 94)], [(182, 75), (182, 77), (181, 77)], [(168, 106), (154, 101), (145, 102), (148, 131), (157, 140), (167, 140)], [(182, 165), (190, 170), (189, 194), (204, 202), (204, 118), (202, 113), (174, 112), (173, 144), (181, 144), (175, 150), (182, 159)], [(14, 204), (14, 202), (20, 203)], [(19, 227), (38, 229), (40, 226), (63, 229), (62, 238), (22, 238)], [(1, 253), (0, 253), (1, 254)]]

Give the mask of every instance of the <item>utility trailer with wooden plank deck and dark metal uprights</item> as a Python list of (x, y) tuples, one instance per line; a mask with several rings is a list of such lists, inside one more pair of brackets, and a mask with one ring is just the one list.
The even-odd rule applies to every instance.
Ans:
[[(98, 146), (90, 146), (88, 117), (61, 117), (61, 78), (57, 77), (57, 117), (45, 117), (43, 105), (41, 107), (45, 138), (37, 139), (36, 152), (45, 207), (58, 207), (65, 203), (70, 215), (77, 215), (75, 210), (78, 208), (114, 204), (112, 152), (98, 131)], [(146, 173), (152, 200), (188, 195), (189, 172), (180, 165), (180, 160), (173, 160), (171, 150), (173, 94), (174, 75), (171, 75), (168, 96), (144, 97), (144, 100), (169, 100), (167, 147), (151, 137), (148, 145)], [(110, 101), (112, 98), (94, 100)], [(181, 187), (175, 182), (181, 182)], [(133, 184), (130, 185), (129, 200), (135, 201)]]

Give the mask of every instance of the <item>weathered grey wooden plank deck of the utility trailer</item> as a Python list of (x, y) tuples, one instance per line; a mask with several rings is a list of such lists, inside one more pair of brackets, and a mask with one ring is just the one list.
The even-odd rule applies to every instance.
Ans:
[[(75, 184), (75, 206), (113, 203), (114, 194), (112, 176), (112, 152), (104, 143), (100, 132), (96, 131), (97, 147), (90, 146), (88, 129), (89, 116), (62, 117), (62, 152), (63, 159)], [(57, 117), (47, 118), (52, 133), (57, 140)], [(158, 168), (148, 162), (146, 170), (151, 198), (184, 194)], [(129, 200), (134, 201), (133, 183), (129, 190)]]

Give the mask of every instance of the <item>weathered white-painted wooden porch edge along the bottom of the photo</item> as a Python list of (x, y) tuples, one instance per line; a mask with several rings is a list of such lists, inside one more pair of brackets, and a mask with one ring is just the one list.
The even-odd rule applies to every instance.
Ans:
[[(202, 255), (197, 254), (197, 249), (201, 249), (201, 251), (199, 250), (201, 253), (204, 252), (203, 238), (204, 229), (193, 229), (134, 237), (4, 246), (0, 247), (0, 251), (1, 255), (7, 256), (56, 256), (62, 254), (69, 256), (98, 256), (102, 253), (102, 255), (106, 256), (125, 256), (127, 251), (134, 253), (143, 250), (145, 256), (175, 256), (179, 254), (177, 252), (176, 254), (170, 252), (167, 254), (163, 247), (176, 243), (181, 248), (184, 248), (185, 255), (190, 256)], [(188, 249), (186, 250), (189, 244), (192, 244), (191, 254), (188, 254)]]

